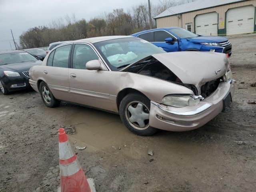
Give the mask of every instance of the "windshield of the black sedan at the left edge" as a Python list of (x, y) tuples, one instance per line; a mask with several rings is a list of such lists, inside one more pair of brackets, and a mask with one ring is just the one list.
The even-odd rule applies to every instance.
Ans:
[(27, 61), (37, 61), (37, 59), (27, 52), (0, 54), (0, 65), (27, 62)]

